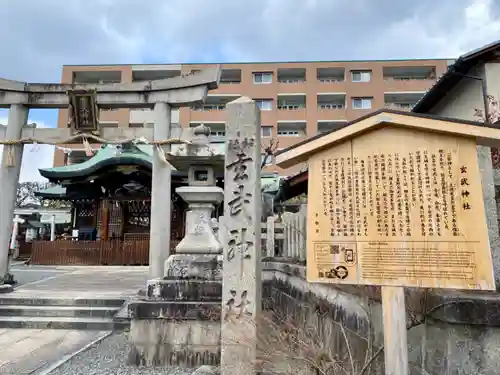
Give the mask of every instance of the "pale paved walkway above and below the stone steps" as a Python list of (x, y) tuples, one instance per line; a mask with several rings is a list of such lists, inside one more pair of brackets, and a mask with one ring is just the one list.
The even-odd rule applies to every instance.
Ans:
[[(5, 297), (126, 298), (146, 286), (148, 268), (15, 265), (12, 272), (20, 285)], [(51, 366), (108, 334), (106, 331), (0, 329), (0, 374), (47, 374)]]

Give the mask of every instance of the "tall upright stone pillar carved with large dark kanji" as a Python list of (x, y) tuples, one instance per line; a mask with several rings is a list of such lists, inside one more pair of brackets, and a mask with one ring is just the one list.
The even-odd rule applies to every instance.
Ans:
[(260, 111), (241, 97), (227, 105), (224, 175), (221, 374), (255, 374), (261, 310)]

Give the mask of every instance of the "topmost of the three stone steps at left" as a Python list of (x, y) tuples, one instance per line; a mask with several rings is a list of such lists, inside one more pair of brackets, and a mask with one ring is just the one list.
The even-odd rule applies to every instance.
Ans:
[(123, 298), (0, 297), (0, 305), (121, 307)]

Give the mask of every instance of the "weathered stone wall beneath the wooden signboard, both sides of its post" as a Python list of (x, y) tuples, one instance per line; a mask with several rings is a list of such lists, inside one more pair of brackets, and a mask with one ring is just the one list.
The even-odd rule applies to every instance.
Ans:
[[(349, 357), (357, 375), (384, 374), (383, 351), (360, 373), (383, 345), (377, 288), (307, 283), (303, 265), (277, 259), (264, 262), (263, 270), (266, 307), (291, 317), (297, 329), (316, 335), (344, 367), (345, 371), (337, 368), (333, 374), (353, 373)], [(500, 298), (496, 293), (408, 290), (406, 304), (412, 327), (408, 331), (411, 375), (499, 373)]]

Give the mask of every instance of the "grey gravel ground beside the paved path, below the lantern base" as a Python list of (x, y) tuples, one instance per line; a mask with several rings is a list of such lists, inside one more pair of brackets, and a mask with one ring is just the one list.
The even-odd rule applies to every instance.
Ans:
[(127, 347), (127, 333), (112, 334), (74, 356), (50, 375), (190, 375), (193, 372), (182, 368), (127, 366)]

